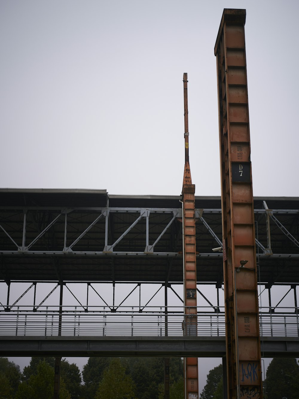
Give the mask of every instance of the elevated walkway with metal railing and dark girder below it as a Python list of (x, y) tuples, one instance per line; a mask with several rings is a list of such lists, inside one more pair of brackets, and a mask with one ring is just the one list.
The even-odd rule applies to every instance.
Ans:
[[(27, 309), (26, 309), (27, 308)], [(225, 356), (224, 309), (27, 306), (0, 313), (3, 356)], [(299, 357), (298, 308), (261, 308), (262, 357)]]

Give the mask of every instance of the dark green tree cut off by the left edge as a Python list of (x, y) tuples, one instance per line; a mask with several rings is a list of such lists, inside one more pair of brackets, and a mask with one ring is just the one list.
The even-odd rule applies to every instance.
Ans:
[(14, 398), (21, 379), (21, 373), (8, 358), (0, 358), (0, 399)]

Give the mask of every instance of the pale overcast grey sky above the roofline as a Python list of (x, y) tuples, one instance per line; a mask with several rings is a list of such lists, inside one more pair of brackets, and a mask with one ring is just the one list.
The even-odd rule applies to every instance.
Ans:
[(220, 195), (214, 44), (246, 8), (254, 195), (299, 196), (297, 1), (0, 2), (1, 187)]

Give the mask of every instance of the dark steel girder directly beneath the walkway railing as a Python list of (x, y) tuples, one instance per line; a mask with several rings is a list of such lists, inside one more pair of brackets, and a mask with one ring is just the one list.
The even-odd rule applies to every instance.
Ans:
[[(262, 357), (299, 357), (296, 337), (261, 338)], [(2, 356), (223, 357), (225, 337), (1, 337)]]

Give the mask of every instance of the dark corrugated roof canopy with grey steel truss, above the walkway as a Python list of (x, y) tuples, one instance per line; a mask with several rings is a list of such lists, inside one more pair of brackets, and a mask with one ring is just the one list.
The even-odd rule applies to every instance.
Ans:
[[(0, 279), (182, 282), (179, 196), (1, 190)], [(197, 282), (223, 282), (220, 197), (196, 197)], [(299, 198), (255, 198), (262, 284), (299, 283)]]

